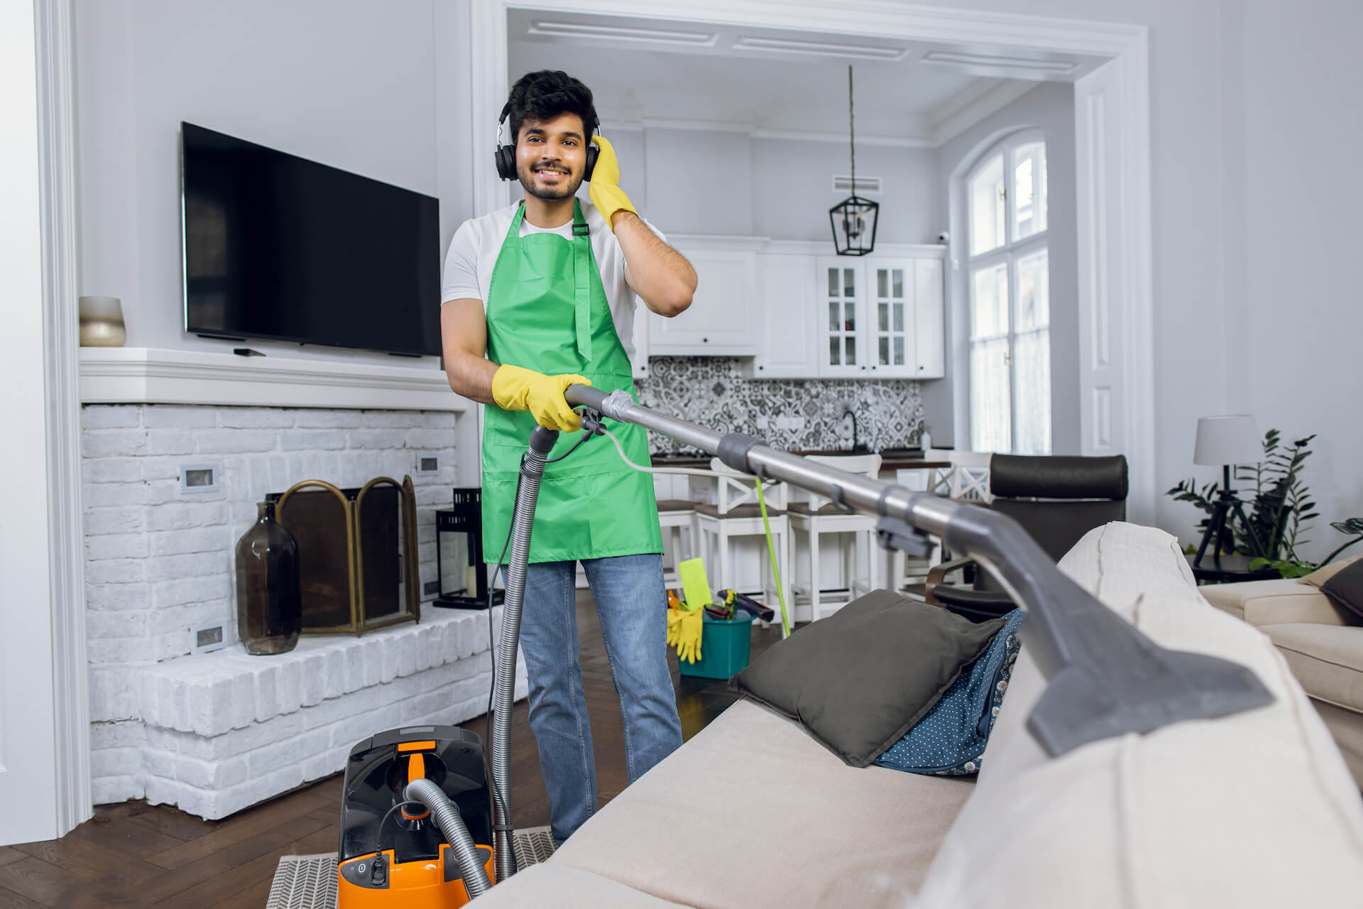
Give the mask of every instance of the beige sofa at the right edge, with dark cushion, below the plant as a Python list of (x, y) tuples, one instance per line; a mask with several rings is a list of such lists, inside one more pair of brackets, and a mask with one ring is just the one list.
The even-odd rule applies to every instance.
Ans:
[(1321, 582), (1281, 578), (1209, 585), (1201, 591), (1277, 646), (1363, 788), (1363, 627), (1321, 593)]

